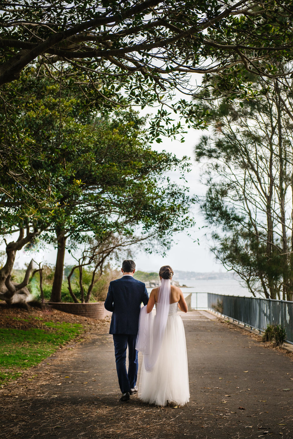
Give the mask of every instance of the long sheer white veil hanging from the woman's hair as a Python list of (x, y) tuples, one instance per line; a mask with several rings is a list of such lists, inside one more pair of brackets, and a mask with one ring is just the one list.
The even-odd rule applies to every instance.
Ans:
[(160, 353), (170, 309), (170, 294), (170, 279), (162, 279), (154, 320), (152, 313), (147, 313), (146, 306), (140, 310), (136, 350), (143, 353), (144, 366), (148, 372), (154, 368)]

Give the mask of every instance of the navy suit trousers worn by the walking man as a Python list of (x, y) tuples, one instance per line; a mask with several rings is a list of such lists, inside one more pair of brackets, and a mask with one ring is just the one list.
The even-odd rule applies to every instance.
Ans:
[[(122, 393), (129, 392), (136, 385), (138, 357), (135, 348), (137, 335), (113, 334), (116, 371)], [(128, 346), (128, 372), (126, 371), (126, 349)]]

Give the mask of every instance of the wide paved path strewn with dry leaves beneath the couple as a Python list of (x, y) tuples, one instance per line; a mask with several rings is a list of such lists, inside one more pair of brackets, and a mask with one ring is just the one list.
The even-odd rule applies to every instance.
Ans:
[[(110, 335), (62, 349), (0, 393), (0, 439), (293, 437), (293, 362), (209, 313), (182, 316), (190, 402), (155, 407), (120, 393)], [(242, 407), (242, 408), (240, 408)]]

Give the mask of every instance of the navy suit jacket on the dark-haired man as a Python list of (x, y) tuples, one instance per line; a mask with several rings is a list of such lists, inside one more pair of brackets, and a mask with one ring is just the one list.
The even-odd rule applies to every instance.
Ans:
[(149, 295), (146, 285), (130, 275), (110, 282), (104, 306), (112, 311), (109, 334), (133, 334), (138, 332), (140, 305), (146, 305)]

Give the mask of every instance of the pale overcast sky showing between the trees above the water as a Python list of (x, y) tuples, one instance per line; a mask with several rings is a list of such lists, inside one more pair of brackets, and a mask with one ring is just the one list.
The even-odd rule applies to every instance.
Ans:
[[(162, 138), (161, 144), (154, 144), (154, 149), (160, 151), (165, 149), (166, 151), (174, 153), (178, 157), (187, 155), (192, 158), (192, 170), (186, 174), (187, 185), (190, 188), (190, 194), (203, 195), (206, 191), (206, 187), (200, 183), (200, 173), (202, 165), (196, 163), (193, 159), (193, 148), (203, 131), (189, 129), (185, 135), (185, 142), (181, 143), (177, 140), (171, 140)], [(170, 174), (169, 174), (170, 175)], [(179, 180), (179, 173), (172, 175), (175, 181)], [(199, 212), (199, 207), (195, 206), (193, 214), (196, 219), (196, 226), (189, 230), (190, 236), (187, 232), (179, 233), (174, 236), (174, 245), (163, 257), (160, 254), (147, 254), (145, 252), (136, 253), (134, 260), (136, 262), (136, 269), (142, 271), (157, 271), (162, 265), (170, 265), (173, 270), (183, 271), (196, 271), (196, 272), (211, 272), (223, 270), (221, 264), (216, 263), (214, 256), (208, 249), (207, 238), (204, 236), (206, 228), (203, 228), (204, 221), (202, 215)], [(13, 239), (17, 239), (13, 236)], [(197, 242), (199, 240), (199, 244)], [(196, 242), (194, 242), (196, 241)], [(4, 250), (5, 246), (1, 245), (1, 249)], [(56, 250), (53, 247), (47, 247), (45, 249), (39, 249), (38, 252), (25, 252), (22, 249), (16, 255), (14, 267), (22, 268), (25, 263), (29, 263), (31, 259), (34, 259), (37, 263), (55, 263)], [(122, 261), (121, 261), (122, 262)], [(73, 259), (67, 253), (65, 256), (65, 264), (71, 265)]]

